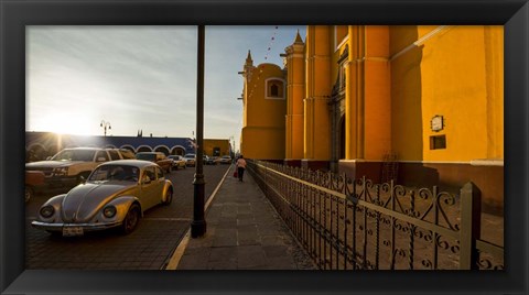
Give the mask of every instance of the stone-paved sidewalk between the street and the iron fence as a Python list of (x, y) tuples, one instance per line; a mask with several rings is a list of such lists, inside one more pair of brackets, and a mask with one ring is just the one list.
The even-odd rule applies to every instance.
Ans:
[(165, 270), (316, 270), (251, 175), (230, 167), (206, 204), (204, 237), (184, 237)]

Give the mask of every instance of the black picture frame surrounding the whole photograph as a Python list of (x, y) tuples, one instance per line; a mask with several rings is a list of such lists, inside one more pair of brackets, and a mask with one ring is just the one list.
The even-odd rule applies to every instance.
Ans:
[[(527, 294), (527, 0), (0, 0), (0, 292), (2, 294)], [(505, 25), (505, 271), (24, 270), (25, 25)], [(236, 75), (236, 73), (234, 74)]]

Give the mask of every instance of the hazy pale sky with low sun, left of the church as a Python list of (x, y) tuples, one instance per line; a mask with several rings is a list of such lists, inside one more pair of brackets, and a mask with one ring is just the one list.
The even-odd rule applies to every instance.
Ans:
[[(282, 66), (304, 25), (206, 26), (204, 138), (239, 145), (242, 65)], [(26, 26), (26, 131), (196, 135), (197, 26)]]

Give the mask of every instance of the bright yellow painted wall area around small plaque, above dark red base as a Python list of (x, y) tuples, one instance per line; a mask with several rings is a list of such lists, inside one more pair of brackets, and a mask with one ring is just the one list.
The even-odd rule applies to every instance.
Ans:
[[(410, 161), (503, 159), (501, 28), (436, 29), (390, 29), (399, 44), (393, 54), (422, 42), (391, 63), (393, 149)], [(433, 132), (431, 119), (438, 114), (445, 127)], [(430, 136), (441, 134), (446, 149), (431, 150)]]

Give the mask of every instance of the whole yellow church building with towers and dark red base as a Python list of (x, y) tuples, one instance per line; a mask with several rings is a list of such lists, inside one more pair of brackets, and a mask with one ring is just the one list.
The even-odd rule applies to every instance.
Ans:
[(312, 170), (482, 190), (503, 214), (504, 30), (309, 25), (244, 76), (240, 152)]

